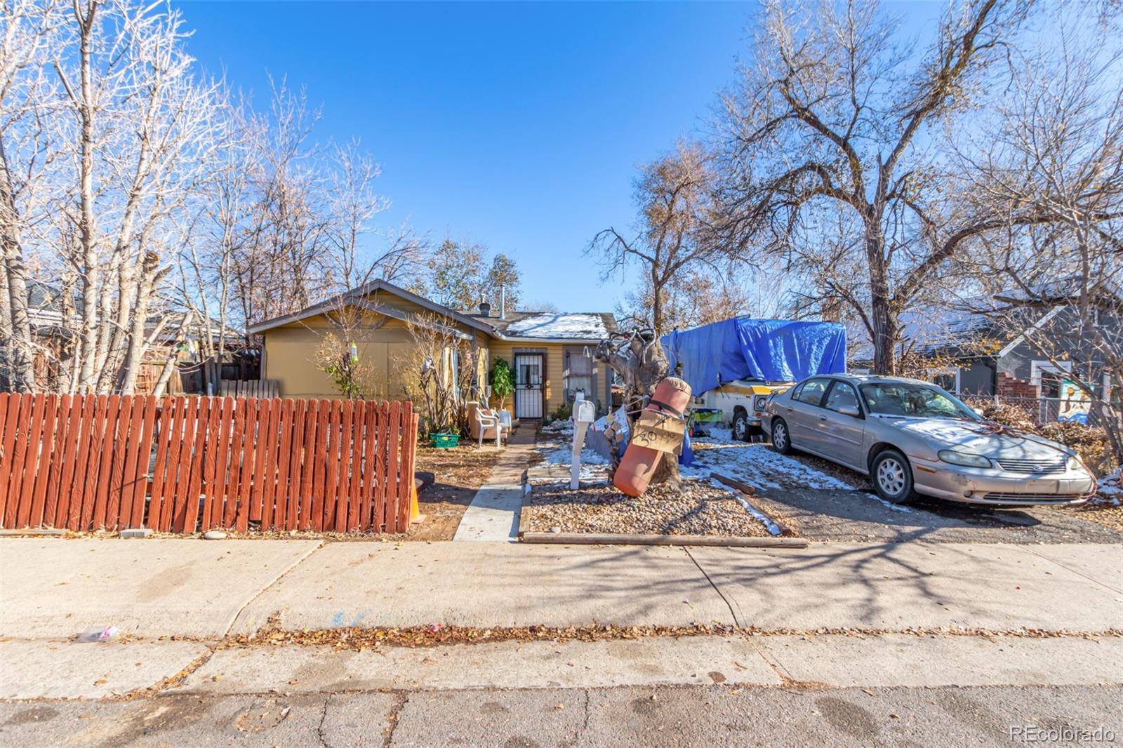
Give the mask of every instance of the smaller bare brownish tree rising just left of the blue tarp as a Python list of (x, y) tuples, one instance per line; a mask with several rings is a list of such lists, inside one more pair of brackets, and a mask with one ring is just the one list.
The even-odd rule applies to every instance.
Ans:
[(646, 165), (636, 182), (636, 235), (627, 237), (610, 227), (586, 248), (602, 261), (605, 281), (639, 265), (657, 336), (668, 331), (665, 303), (674, 284), (686, 273), (713, 268), (722, 258), (720, 245), (707, 235), (712, 184), (702, 146), (679, 143), (674, 153)]

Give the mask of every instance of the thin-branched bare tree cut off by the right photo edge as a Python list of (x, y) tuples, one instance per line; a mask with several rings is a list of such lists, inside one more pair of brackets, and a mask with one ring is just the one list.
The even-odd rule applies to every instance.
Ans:
[(1123, 47), (1080, 10), (1012, 55), (1011, 85), (961, 154), (969, 199), (1007, 217), (962, 262), (992, 299), (978, 311), (1066, 372), (1123, 464)]

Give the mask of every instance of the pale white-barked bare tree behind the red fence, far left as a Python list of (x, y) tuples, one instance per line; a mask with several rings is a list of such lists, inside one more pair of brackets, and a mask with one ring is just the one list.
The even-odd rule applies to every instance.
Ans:
[[(128, 392), (183, 239), (174, 216), (211, 148), (214, 86), (192, 70), (166, 4), (6, 10), (16, 20), (4, 28), (6, 112), (9, 94), (19, 104), (2, 133), (3, 325), (20, 367), (28, 350), (62, 366), (55, 386)], [(52, 281), (40, 286), (62, 310), (57, 345), (31, 337), (25, 267)]]

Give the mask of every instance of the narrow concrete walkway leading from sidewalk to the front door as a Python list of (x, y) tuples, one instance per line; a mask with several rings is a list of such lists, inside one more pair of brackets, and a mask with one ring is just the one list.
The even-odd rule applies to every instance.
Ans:
[[(484, 443), (485, 446), (487, 443)], [(524, 425), (508, 439), (487, 482), (480, 486), (464, 512), (453, 540), (497, 540), (519, 538), (519, 512), (522, 510), (522, 473), (535, 449), (535, 429)]]

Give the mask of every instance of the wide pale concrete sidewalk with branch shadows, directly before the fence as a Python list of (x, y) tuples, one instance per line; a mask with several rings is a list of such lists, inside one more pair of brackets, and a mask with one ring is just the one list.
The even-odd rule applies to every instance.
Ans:
[(1123, 624), (1123, 548), (816, 544), (800, 550), (277, 540), (2, 539), (0, 635), (91, 626), (219, 638), (431, 623), (761, 628)]

